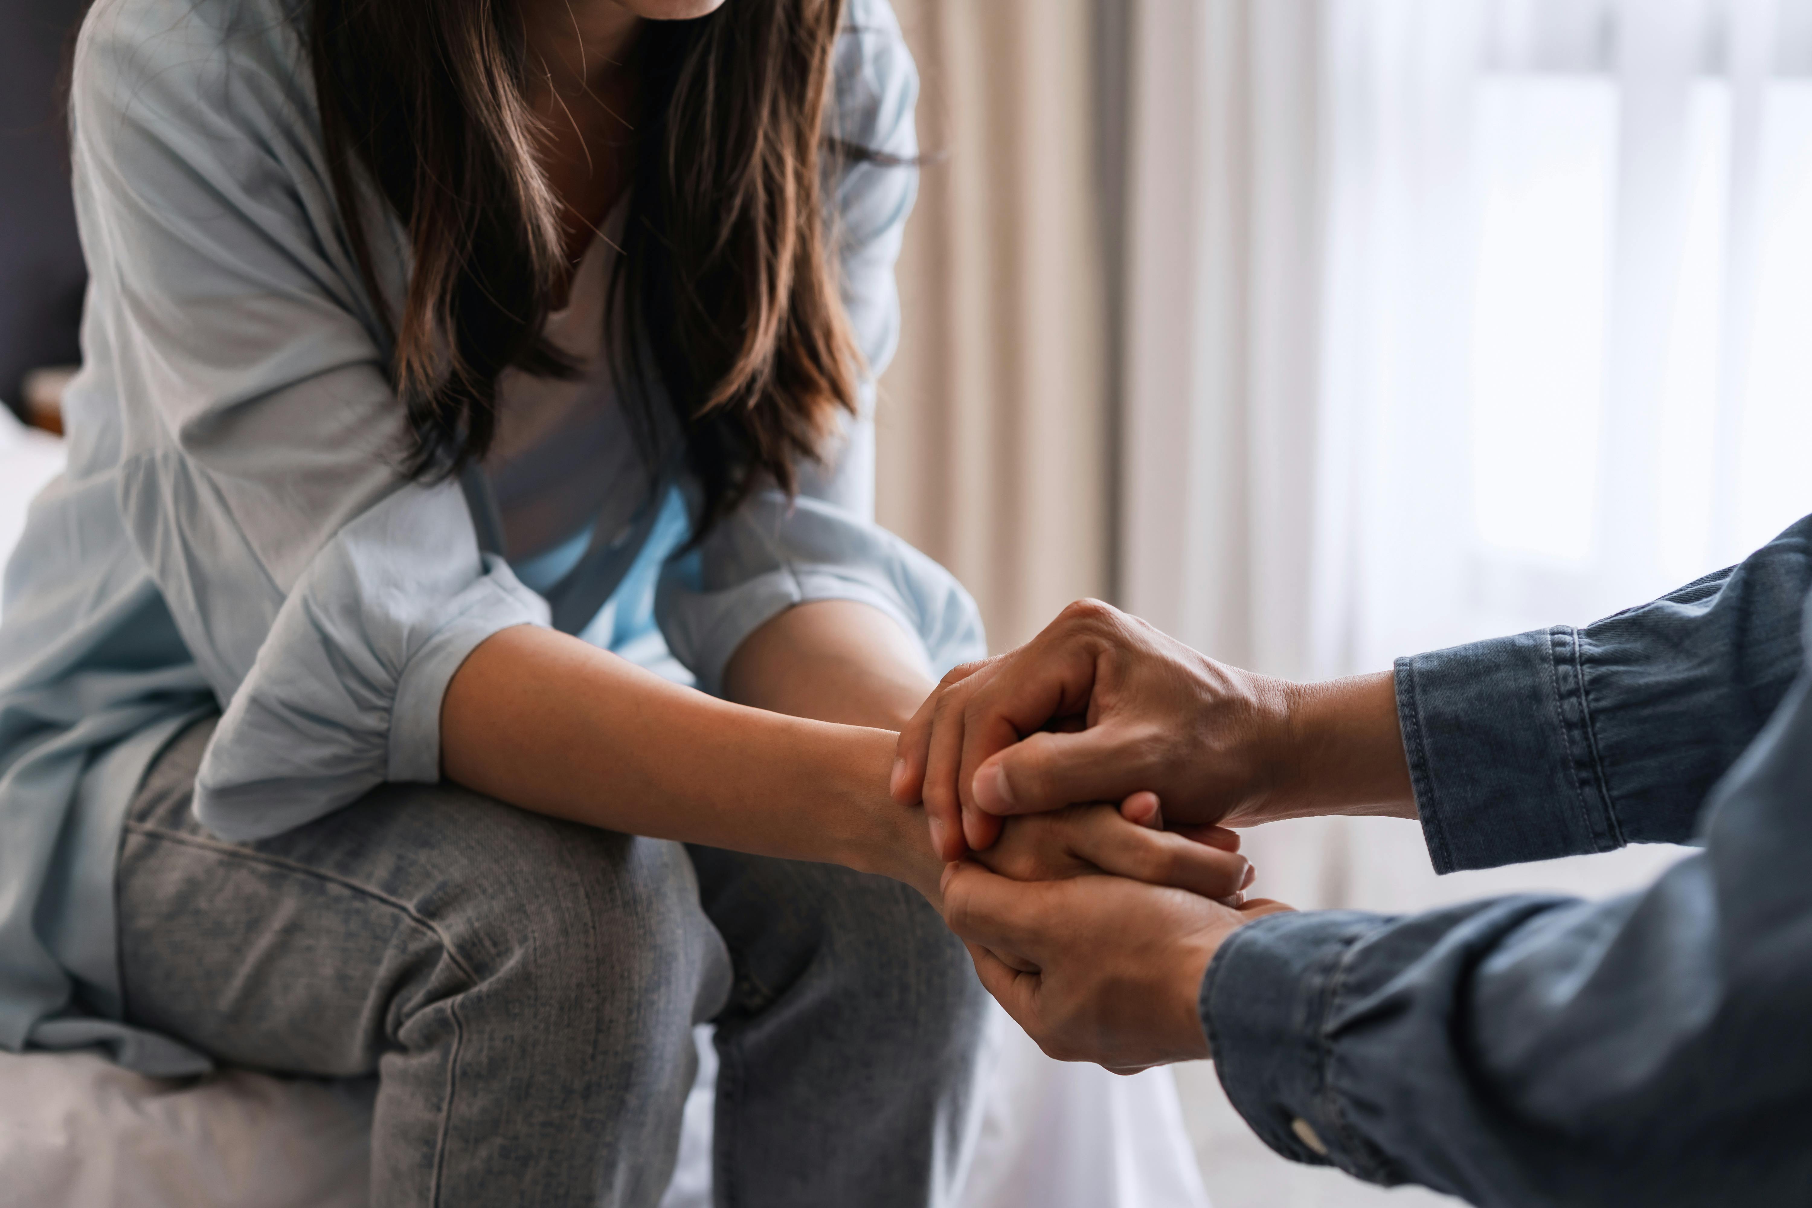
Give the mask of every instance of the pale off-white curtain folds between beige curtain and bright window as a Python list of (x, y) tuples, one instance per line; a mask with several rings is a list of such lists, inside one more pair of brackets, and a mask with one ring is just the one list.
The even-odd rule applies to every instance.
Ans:
[(1285, 674), (1312, 657), (1317, 13), (1132, 5), (1122, 596)]

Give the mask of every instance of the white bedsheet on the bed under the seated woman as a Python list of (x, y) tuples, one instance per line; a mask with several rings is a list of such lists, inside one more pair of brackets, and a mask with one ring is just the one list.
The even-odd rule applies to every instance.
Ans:
[[(60, 465), (58, 440), (0, 407), (0, 560)], [(993, 1036), (960, 1208), (1207, 1208), (1169, 1070), (1051, 1061), (998, 1011)], [(707, 1038), (661, 1208), (710, 1204)], [(0, 1204), (359, 1208), (370, 1117), (370, 1083), (246, 1070), (169, 1083), (94, 1054), (0, 1052)]]

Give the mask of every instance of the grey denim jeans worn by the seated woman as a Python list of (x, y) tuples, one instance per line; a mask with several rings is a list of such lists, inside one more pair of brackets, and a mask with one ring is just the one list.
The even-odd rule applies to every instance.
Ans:
[(375, 1074), (373, 1204), (654, 1204), (710, 1018), (718, 1204), (953, 1195), (984, 996), (910, 887), (426, 784), (228, 844), (188, 808), (210, 733), (129, 810), (127, 1018), (225, 1063)]

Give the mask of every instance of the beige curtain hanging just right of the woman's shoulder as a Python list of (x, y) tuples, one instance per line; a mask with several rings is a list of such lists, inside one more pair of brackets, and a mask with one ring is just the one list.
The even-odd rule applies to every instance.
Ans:
[(881, 382), (881, 523), (975, 594), (995, 650), (1109, 590), (1094, 0), (895, 0), (935, 156)]

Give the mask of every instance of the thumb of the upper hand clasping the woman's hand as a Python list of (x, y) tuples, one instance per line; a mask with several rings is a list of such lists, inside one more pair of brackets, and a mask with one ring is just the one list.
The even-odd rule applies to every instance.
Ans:
[(995, 815), (1046, 813), (1080, 801), (1122, 801), (1151, 788), (1125, 735), (1102, 724), (1075, 733), (1033, 733), (975, 770), (975, 804)]

